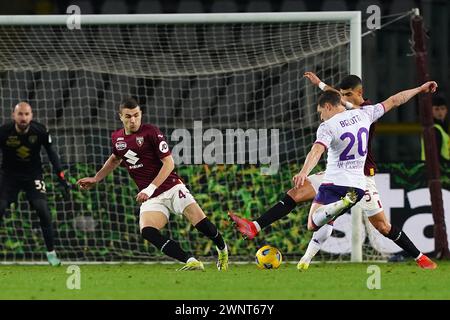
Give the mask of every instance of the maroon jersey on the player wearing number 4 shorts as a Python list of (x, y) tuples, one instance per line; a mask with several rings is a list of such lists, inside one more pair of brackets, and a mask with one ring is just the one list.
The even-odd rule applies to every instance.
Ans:
[[(116, 130), (111, 134), (111, 142), (113, 154), (122, 159), (122, 165), (127, 168), (139, 191), (148, 187), (158, 175), (161, 159), (171, 155), (164, 135), (150, 124), (142, 124), (138, 131), (129, 135), (124, 129)], [(172, 171), (151, 197), (180, 183), (183, 183), (180, 177)]]

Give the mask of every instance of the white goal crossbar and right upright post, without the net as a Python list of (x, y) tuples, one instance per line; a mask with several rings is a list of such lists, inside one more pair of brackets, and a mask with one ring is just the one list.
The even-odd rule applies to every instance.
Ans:
[[(39, 26), (67, 25), (73, 19), (67, 15), (0, 15), (0, 25)], [(123, 25), (123, 24), (231, 24), (231, 23), (295, 23), (349, 21), (350, 23), (350, 73), (361, 77), (361, 11), (327, 12), (264, 12), (264, 13), (195, 13), (195, 14), (80, 14), (80, 27), (83, 25)], [(76, 32), (76, 30), (74, 30)], [(352, 251), (351, 261), (362, 261), (362, 239), (360, 230), (362, 212), (352, 210)], [(1, 263), (1, 262), (0, 262)]]

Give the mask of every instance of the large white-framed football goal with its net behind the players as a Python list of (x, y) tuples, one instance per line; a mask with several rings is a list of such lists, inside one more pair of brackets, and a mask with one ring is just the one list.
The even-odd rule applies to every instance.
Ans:
[[(291, 187), (319, 124), (320, 90), (303, 73), (313, 70), (332, 85), (349, 73), (361, 76), (361, 12), (79, 18), (80, 28), (70, 30), (68, 15), (0, 16), (2, 122), (10, 118), (8, 106), (28, 100), (35, 119), (54, 133), (74, 183), (107, 159), (110, 133), (121, 127), (117, 105), (136, 96), (143, 122), (167, 136), (178, 172), (233, 257), (251, 259), (270, 242), (298, 259), (310, 237), (304, 228), (309, 203), (254, 242), (239, 237), (226, 212), (257, 216)], [(261, 170), (273, 164), (274, 170)], [(48, 165), (45, 172), (62, 259), (166, 259), (139, 235), (137, 190), (123, 168), (94, 191), (75, 190), (68, 202), (53, 186)], [(7, 213), (0, 262), (45, 261), (38, 220), (29, 209), (22, 197)], [(171, 216), (164, 232), (196, 255), (215, 254), (211, 241), (181, 217)], [(372, 250), (358, 249), (361, 241), (345, 249), (336, 245), (324, 257), (348, 260), (352, 250)]]

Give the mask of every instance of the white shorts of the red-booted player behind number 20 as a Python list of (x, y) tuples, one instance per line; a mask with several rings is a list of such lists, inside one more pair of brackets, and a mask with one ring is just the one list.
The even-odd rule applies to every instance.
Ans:
[[(322, 183), (324, 173), (325, 172), (317, 172), (316, 174), (308, 176), (308, 180), (311, 182), (311, 186), (314, 188), (316, 194), (319, 192), (319, 187)], [(378, 194), (374, 176), (366, 176), (365, 194), (356, 206), (359, 206), (367, 217), (372, 217), (383, 211), (383, 205), (380, 200), (380, 195)]]

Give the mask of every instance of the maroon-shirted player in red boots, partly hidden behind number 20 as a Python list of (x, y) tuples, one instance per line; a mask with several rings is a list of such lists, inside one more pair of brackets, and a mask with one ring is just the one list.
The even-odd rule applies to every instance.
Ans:
[[(320, 87), (322, 90), (335, 90), (327, 86), (312, 72), (306, 72), (305, 77), (308, 78), (312, 84)], [(359, 108), (360, 106), (371, 104), (370, 101), (363, 98), (362, 81), (355, 75), (348, 75), (339, 85), (340, 93), (344, 102), (350, 104), (352, 107)], [(370, 223), (382, 235), (391, 239), (399, 247), (409, 253), (415, 258), (417, 264), (424, 269), (435, 269), (436, 264), (431, 261), (426, 255), (421, 253), (417, 247), (411, 242), (408, 236), (395, 225), (391, 225), (384, 214), (383, 206), (381, 204), (380, 196), (375, 184), (376, 165), (372, 154), (372, 139), (375, 135), (376, 123), (373, 123), (369, 131), (368, 141), (368, 155), (364, 166), (364, 174), (367, 179), (367, 190), (365, 197), (358, 205), (361, 207), (364, 214), (367, 215)], [(305, 201), (311, 201), (317, 194), (319, 186), (322, 182), (322, 173), (317, 173), (308, 177), (305, 184), (300, 188), (290, 189), (283, 200), (278, 202), (275, 206), (266, 211), (263, 215), (254, 221), (250, 221), (237, 216), (230, 212), (229, 216), (235, 222), (237, 229), (247, 238), (254, 238), (261, 229), (267, 227), (273, 222), (281, 219), (290, 213), (297, 204)], [(311, 223), (311, 217), (308, 217), (308, 224)], [(331, 236), (333, 231), (332, 223), (322, 226), (315, 231), (304, 256), (300, 259), (297, 268), (299, 270), (306, 270), (312, 258), (320, 250), (322, 244)]]

